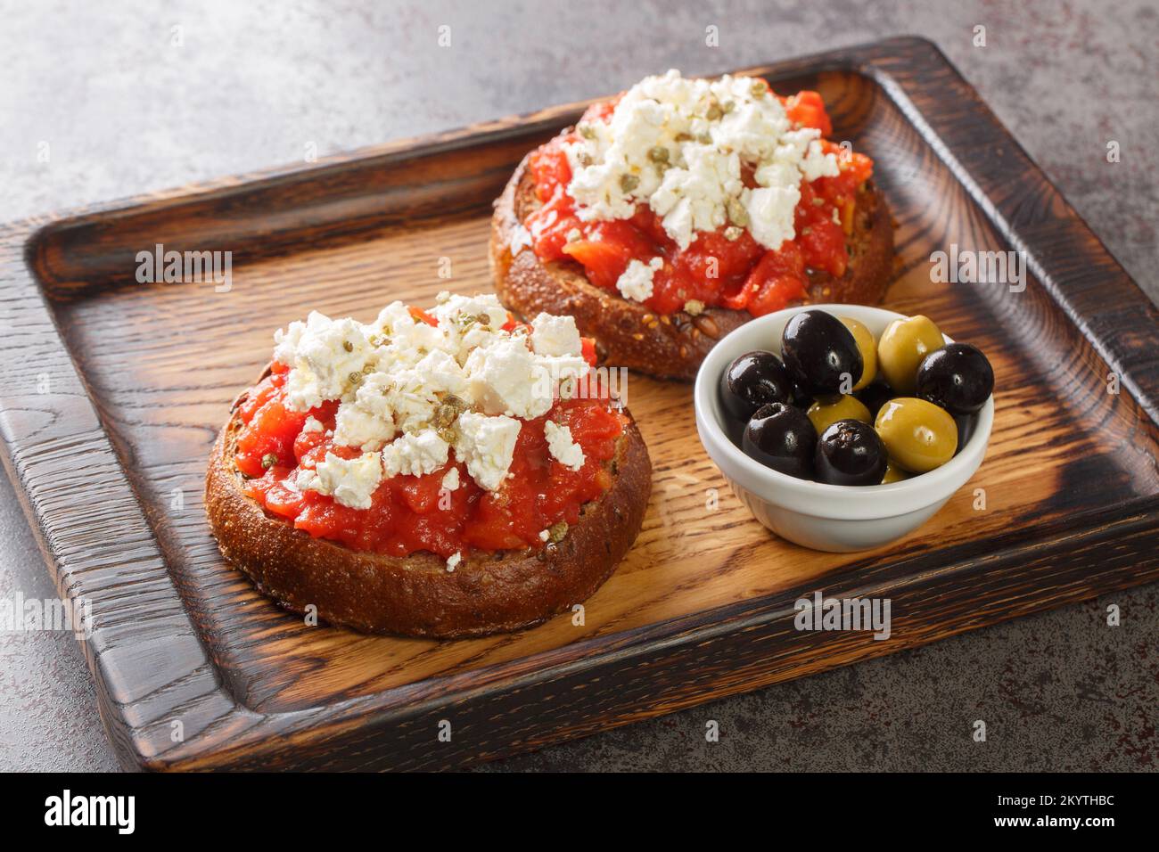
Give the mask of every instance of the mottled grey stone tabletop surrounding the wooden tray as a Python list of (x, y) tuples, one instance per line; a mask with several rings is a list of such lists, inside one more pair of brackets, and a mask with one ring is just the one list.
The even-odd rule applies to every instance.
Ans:
[[(301, 161), (311, 141), (325, 155), (525, 112), (668, 67), (721, 72), (898, 34), (938, 42), (1159, 298), (1154, 0), (0, 0), (0, 220)], [(1108, 181), (1096, 163), (1110, 139), (1122, 162)], [(0, 540), (0, 596), (53, 595), (2, 476)], [(483, 769), (1154, 771), (1157, 604), (1144, 587)], [(0, 769), (115, 767), (72, 639), (0, 633)]]

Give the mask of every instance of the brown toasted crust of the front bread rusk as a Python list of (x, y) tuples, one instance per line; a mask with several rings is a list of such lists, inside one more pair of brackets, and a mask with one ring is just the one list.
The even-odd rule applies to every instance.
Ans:
[[(236, 405), (236, 403), (235, 403)], [(234, 465), (240, 418), (221, 430), (205, 476), (205, 508), (225, 558), (296, 612), (371, 633), (459, 639), (516, 631), (590, 597), (635, 541), (651, 490), (651, 463), (629, 422), (611, 464), (612, 487), (583, 508), (559, 544), (541, 551), (472, 549), (453, 571), (432, 553), (353, 551), (294, 530), (242, 493)]]

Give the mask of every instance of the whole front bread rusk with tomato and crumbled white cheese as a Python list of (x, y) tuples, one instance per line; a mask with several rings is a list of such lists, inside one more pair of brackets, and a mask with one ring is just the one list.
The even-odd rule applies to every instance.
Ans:
[[(651, 467), (569, 318), (494, 296), (313, 313), (233, 403), (205, 504), (225, 558), (282, 605), (454, 639), (583, 602), (630, 548)], [(591, 371), (595, 377), (595, 372)]]

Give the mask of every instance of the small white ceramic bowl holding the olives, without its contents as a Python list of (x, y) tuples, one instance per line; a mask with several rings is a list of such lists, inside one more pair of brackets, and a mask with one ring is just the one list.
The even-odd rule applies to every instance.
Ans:
[[(697, 373), (693, 402), (697, 431), (708, 456), (732, 490), (761, 524), (781, 538), (817, 551), (850, 553), (888, 544), (918, 529), (974, 475), (986, 454), (994, 421), (991, 396), (977, 414), (965, 446), (941, 467), (883, 486), (831, 486), (770, 469), (745, 456), (724, 432), (721, 373), (734, 358), (753, 349), (781, 351), (781, 332), (789, 318), (819, 308), (860, 320), (880, 337), (903, 314), (862, 305), (808, 305), (759, 316), (724, 336)], [(936, 319), (934, 319), (936, 322)], [(946, 342), (953, 342), (946, 337)]]

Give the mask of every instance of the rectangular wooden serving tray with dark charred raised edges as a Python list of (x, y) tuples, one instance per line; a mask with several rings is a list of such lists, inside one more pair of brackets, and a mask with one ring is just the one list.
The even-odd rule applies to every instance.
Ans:
[[(654, 493), (582, 626), (458, 642), (306, 626), (223, 563), (202, 483), (275, 328), (489, 290), (491, 201), (583, 104), (0, 232), (6, 464), (61, 592), (93, 604), (86, 654), (125, 765), (454, 766), (1159, 577), (1153, 305), (930, 42), (753, 71), (818, 89), (834, 138), (874, 158), (897, 219), (885, 304), (989, 354), (990, 451), (899, 544), (816, 553), (727, 490), (690, 385), (632, 376)], [(137, 283), (156, 243), (232, 252), (232, 290)], [(931, 283), (952, 243), (1025, 252), (1026, 290)], [(891, 636), (797, 632), (815, 590), (890, 598)]]

